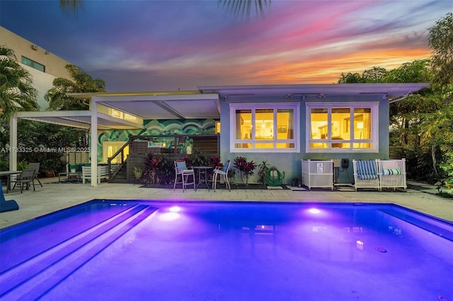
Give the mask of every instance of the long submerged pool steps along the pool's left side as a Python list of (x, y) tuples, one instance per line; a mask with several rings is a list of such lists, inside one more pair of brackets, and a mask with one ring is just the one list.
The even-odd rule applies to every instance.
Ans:
[(136, 205), (0, 275), (1, 300), (35, 300), (156, 211)]

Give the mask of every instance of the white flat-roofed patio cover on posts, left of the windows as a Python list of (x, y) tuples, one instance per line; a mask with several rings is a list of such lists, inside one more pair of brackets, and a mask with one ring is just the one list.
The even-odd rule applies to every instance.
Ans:
[[(17, 112), (10, 120), (9, 145), (17, 148), (17, 120), (27, 119), (70, 126), (90, 131), (91, 137), (98, 130), (143, 129), (145, 119), (219, 119), (220, 104), (217, 94), (199, 91), (144, 92), (144, 93), (74, 93), (70, 96), (89, 100), (90, 110)], [(114, 117), (111, 112), (129, 114), (135, 121)], [(97, 138), (91, 138), (90, 157), (98, 157)], [(17, 170), (17, 153), (11, 152), (10, 170)], [(91, 174), (96, 175), (97, 160), (91, 161)], [(91, 186), (97, 186), (91, 181)]]

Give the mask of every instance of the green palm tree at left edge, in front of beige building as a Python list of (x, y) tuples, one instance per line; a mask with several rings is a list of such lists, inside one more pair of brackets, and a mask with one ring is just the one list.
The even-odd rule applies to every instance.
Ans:
[(16, 61), (12, 49), (1, 46), (0, 118), (9, 119), (18, 111), (37, 111), (37, 95), (31, 74)]

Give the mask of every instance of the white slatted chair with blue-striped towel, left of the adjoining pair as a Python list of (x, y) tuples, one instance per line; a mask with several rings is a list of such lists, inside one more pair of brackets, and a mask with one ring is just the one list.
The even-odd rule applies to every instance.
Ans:
[(352, 165), (354, 165), (355, 191), (357, 191), (358, 188), (374, 188), (381, 191), (378, 161), (379, 160), (352, 160)]

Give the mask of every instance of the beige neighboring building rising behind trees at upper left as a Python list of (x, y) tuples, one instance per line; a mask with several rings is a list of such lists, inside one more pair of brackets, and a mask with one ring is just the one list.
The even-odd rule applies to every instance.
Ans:
[(38, 105), (40, 110), (45, 110), (49, 106), (44, 99), (45, 93), (52, 88), (55, 78), (71, 79), (65, 68), (71, 63), (1, 26), (0, 45), (12, 49), (18, 62), (33, 76), (33, 86), (38, 90)]

